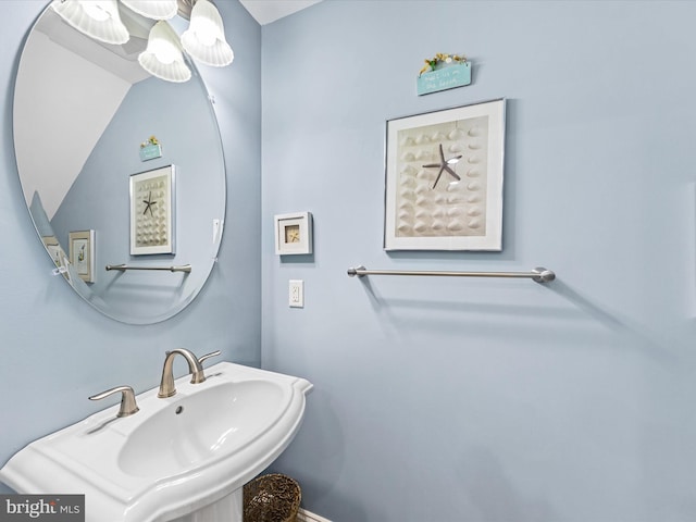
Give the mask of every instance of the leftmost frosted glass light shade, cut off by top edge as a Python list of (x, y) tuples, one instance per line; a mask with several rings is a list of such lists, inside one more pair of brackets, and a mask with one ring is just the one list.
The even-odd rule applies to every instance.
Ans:
[(130, 37), (121, 22), (116, 0), (53, 0), (51, 8), (70, 25), (96, 40), (121, 45)]

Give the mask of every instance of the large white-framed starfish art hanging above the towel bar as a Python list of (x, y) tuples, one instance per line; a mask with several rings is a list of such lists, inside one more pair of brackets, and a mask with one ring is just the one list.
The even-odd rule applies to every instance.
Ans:
[(502, 249), (505, 99), (387, 121), (385, 250)]

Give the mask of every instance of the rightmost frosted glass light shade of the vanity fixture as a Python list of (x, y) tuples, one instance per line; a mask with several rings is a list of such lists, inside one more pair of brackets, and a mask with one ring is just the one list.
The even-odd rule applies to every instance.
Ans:
[(188, 29), (182, 35), (184, 50), (206, 65), (223, 67), (235, 58), (225, 40), (222, 16), (208, 0), (198, 0), (191, 10)]

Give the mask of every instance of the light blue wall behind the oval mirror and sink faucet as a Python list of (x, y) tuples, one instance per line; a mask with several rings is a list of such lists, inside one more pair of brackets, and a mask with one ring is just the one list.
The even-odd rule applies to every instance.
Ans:
[[(224, 360), (260, 363), (259, 25), (239, 3), (217, 2), (236, 59), (231, 67), (200, 67), (215, 97), (227, 171), (220, 261), (185, 311), (160, 324), (128, 326), (92, 310), (50, 275), (51, 261), (21, 197), (12, 144), (13, 77), (25, 35), (47, 4), (4, 1), (0, 21), (0, 465), (30, 440), (116, 400), (95, 403), (89, 395), (119, 384), (137, 391), (157, 386), (167, 349), (221, 349)], [(177, 374), (184, 371), (177, 365)]]

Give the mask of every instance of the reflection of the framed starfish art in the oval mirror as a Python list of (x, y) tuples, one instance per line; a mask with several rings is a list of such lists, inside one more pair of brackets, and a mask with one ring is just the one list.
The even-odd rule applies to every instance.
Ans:
[(130, 254), (174, 253), (175, 167), (130, 176)]

